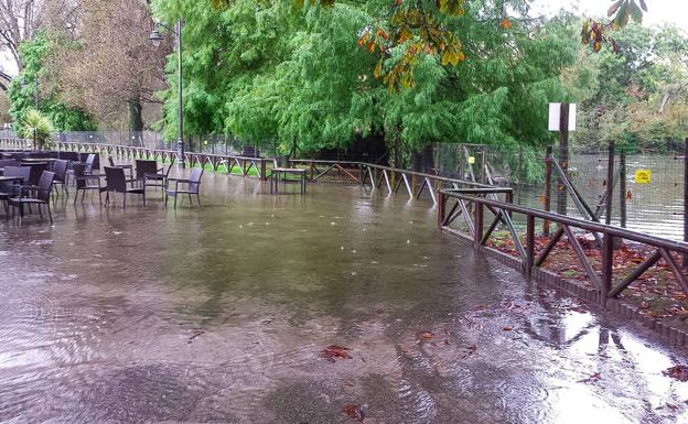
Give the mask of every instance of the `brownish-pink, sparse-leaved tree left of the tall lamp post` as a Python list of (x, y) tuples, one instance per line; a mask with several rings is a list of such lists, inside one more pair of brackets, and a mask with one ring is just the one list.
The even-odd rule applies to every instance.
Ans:
[(60, 40), (51, 58), (63, 100), (88, 110), (100, 122), (127, 116), (129, 129), (143, 130), (144, 105), (161, 104), (170, 44), (148, 40), (151, 17), (144, 0), (83, 0), (78, 31), (53, 31)]

